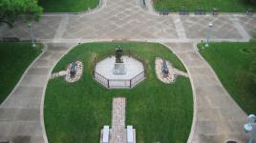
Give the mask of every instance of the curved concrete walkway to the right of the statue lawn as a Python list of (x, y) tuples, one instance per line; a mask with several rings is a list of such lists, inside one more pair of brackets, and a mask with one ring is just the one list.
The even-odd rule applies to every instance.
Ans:
[(225, 91), (192, 43), (165, 43), (186, 67), (193, 89), (194, 117), (189, 143), (245, 142), (245, 112)]

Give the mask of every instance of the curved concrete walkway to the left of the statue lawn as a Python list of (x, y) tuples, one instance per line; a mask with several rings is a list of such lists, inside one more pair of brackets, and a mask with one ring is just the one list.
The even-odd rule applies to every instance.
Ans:
[(51, 44), (23, 74), (0, 106), (0, 142), (46, 143), (44, 93), (56, 62), (75, 44)]

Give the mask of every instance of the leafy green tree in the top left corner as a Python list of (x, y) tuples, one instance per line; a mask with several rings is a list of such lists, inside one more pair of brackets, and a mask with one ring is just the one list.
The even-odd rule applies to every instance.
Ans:
[(17, 19), (38, 21), (43, 9), (37, 5), (37, 0), (0, 0), (0, 23), (6, 23), (11, 28)]

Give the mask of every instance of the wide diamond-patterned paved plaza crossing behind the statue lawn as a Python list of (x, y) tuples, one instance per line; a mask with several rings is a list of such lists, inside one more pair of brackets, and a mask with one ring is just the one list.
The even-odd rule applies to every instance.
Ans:
[[(147, 0), (148, 2), (150, 0)], [(150, 4), (150, 2), (148, 2)], [(160, 16), (142, 9), (139, 0), (106, 0), (99, 10), (81, 14), (44, 14), (32, 24), (35, 37), (47, 42), (84, 40), (202, 40), (208, 23), (215, 40), (248, 40), (246, 31), (256, 29), (256, 17), (225, 13), (217, 16)], [(0, 29), (0, 37), (30, 39), (29, 28), (17, 22), (14, 29)]]

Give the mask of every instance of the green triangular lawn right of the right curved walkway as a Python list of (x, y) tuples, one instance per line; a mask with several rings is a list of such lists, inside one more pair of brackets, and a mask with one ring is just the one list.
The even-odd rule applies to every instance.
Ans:
[(256, 43), (211, 43), (203, 50), (203, 44), (199, 47), (227, 92), (246, 113), (255, 113), (256, 85), (248, 74), (251, 62), (256, 61)]

